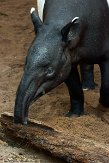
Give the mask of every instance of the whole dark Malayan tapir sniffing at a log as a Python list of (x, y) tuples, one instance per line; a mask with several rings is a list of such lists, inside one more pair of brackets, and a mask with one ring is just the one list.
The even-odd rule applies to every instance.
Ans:
[(71, 108), (66, 116), (84, 114), (78, 64), (98, 64), (99, 102), (109, 107), (109, 2), (107, 0), (45, 0), (43, 22), (34, 8), (36, 36), (28, 50), (19, 84), (14, 122), (27, 124), (30, 104), (65, 82)]

